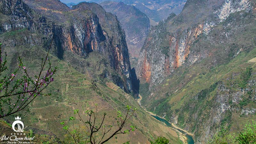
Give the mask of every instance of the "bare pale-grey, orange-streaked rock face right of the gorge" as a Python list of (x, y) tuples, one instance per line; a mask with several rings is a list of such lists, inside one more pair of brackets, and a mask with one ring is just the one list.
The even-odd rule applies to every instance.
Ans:
[[(248, 0), (225, 1), (218, 10), (212, 11), (211, 15), (215, 15), (213, 19), (205, 19), (195, 26), (185, 28), (182, 31), (167, 32), (168, 34), (165, 34), (164, 39), (169, 42), (169, 46), (165, 54), (161, 52), (163, 37), (159, 37), (163, 33), (160, 31), (163, 29), (152, 29), (151, 35), (146, 39), (146, 43), (140, 52), (137, 76), (141, 82), (145, 81), (152, 86), (161, 83), (166, 76), (185, 63), (188, 65), (194, 64), (202, 55), (199, 54), (200, 52), (191, 54), (190, 48), (200, 38), (200, 35), (207, 35), (214, 26), (226, 20), (231, 13), (248, 8), (250, 8), (250, 1)], [(176, 17), (179, 17), (179, 15)], [(166, 22), (163, 27), (168, 28), (172, 27), (172, 25), (169, 26), (168, 22)], [(208, 52), (206, 57), (210, 55), (211, 52)]]

